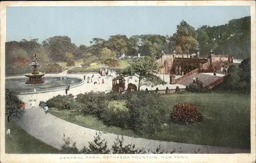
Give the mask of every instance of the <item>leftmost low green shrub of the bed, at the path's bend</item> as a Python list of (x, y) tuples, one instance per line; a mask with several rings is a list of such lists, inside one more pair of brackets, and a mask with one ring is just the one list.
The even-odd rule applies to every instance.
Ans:
[(59, 110), (70, 110), (74, 109), (74, 96), (72, 94), (69, 95), (57, 95), (46, 101), (48, 107), (55, 107)]

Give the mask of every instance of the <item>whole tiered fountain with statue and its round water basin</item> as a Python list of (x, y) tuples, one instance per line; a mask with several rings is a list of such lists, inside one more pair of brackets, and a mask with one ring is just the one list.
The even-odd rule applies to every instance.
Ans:
[(46, 75), (45, 72), (39, 71), (37, 55), (30, 64), (33, 67), (32, 72), (24, 74), (24, 76), (6, 76), (5, 87), (19, 92), (21, 95), (52, 92), (57, 90), (65, 90), (68, 85), (72, 88), (80, 86), (84, 80), (76, 76), (68, 75)]

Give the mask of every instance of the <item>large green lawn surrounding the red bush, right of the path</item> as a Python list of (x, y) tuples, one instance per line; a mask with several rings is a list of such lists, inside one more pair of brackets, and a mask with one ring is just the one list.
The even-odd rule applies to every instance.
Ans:
[[(200, 107), (204, 116), (201, 123), (179, 125), (169, 122), (162, 132), (140, 135), (142, 138), (174, 141), (178, 143), (213, 145), (233, 148), (250, 148), (250, 96), (212, 94), (168, 94), (162, 95), (164, 102), (172, 108), (177, 102), (192, 102)], [(119, 103), (122, 109), (124, 101)], [(81, 116), (74, 111), (50, 109), (51, 114), (66, 121), (105, 132), (138, 137), (132, 130), (109, 127), (93, 116)]]

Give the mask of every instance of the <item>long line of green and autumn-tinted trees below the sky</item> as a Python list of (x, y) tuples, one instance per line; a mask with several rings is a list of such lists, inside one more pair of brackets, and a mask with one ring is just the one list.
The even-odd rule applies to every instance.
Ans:
[[(36, 53), (41, 64), (83, 60), (85, 64), (97, 62), (102, 56), (116, 58), (126, 56), (155, 55), (160, 58), (164, 53), (175, 50), (179, 54), (200, 52), (201, 57), (210, 50), (217, 55), (232, 55), (236, 59), (250, 57), (250, 16), (232, 19), (218, 26), (203, 25), (198, 29), (182, 20), (176, 33), (164, 35), (112, 35), (109, 39), (93, 38), (90, 46), (76, 46), (68, 36), (50, 37), (41, 43), (38, 39), (6, 42), (7, 74), (23, 73), (29, 69), (29, 63)], [(104, 57), (103, 57), (104, 58)], [(109, 61), (102, 61), (110, 62)]]

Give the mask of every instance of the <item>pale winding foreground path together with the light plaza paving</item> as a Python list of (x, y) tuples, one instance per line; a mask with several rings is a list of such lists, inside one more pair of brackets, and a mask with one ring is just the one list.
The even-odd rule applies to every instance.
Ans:
[[(56, 75), (66, 75), (67, 71), (61, 72)], [(92, 75), (92, 74), (87, 74)], [(78, 75), (68, 75), (68, 76), (77, 76), (81, 77), (83, 74)], [(133, 82), (133, 81), (131, 81)], [(105, 85), (93, 85), (91, 84), (83, 84), (79, 87), (71, 88), (69, 93), (73, 95), (77, 95), (79, 93), (88, 92), (91, 90), (94, 91), (109, 91), (112, 87), (111, 79), (106, 81)], [(166, 86), (165, 86), (166, 87)], [(175, 86), (176, 88), (176, 86)], [(39, 101), (48, 100), (53, 96), (58, 94), (65, 94), (65, 91), (55, 91), (34, 95), (20, 95), (20, 98), (24, 100), (25, 103), (29, 103), (31, 98), (36, 99), (36, 106), (38, 106)], [(28, 105), (27, 105), (28, 107)], [(88, 142), (93, 141), (94, 136), (97, 130), (78, 126), (76, 124), (67, 122), (65, 120), (59, 119), (53, 115), (45, 114), (44, 110), (40, 107), (27, 108), (25, 110), (24, 115), (17, 121), (17, 124), (22, 127), (25, 131), (31, 134), (36, 139), (45, 142), (55, 148), (60, 149), (64, 144), (62, 138), (63, 134), (66, 137), (70, 137), (71, 143), (76, 142), (77, 148), (82, 149), (83, 146), (88, 146)], [(108, 141), (108, 146), (116, 141), (118, 135), (113, 133), (102, 132), (102, 139)], [(249, 153), (250, 150), (243, 149), (232, 149), (232, 148), (224, 148), (224, 147), (214, 147), (214, 146), (205, 146), (205, 145), (193, 145), (193, 144), (183, 144), (183, 143), (175, 143), (175, 142), (164, 142), (164, 141), (155, 141), (155, 140), (147, 140), (141, 138), (133, 138), (124, 136), (123, 144), (135, 144), (137, 148), (145, 148), (147, 150), (152, 149), (153, 151), (161, 145), (161, 150), (165, 152), (173, 151), (182, 151), (182, 153), (195, 153), (198, 149), (200, 149), (200, 153)]]

